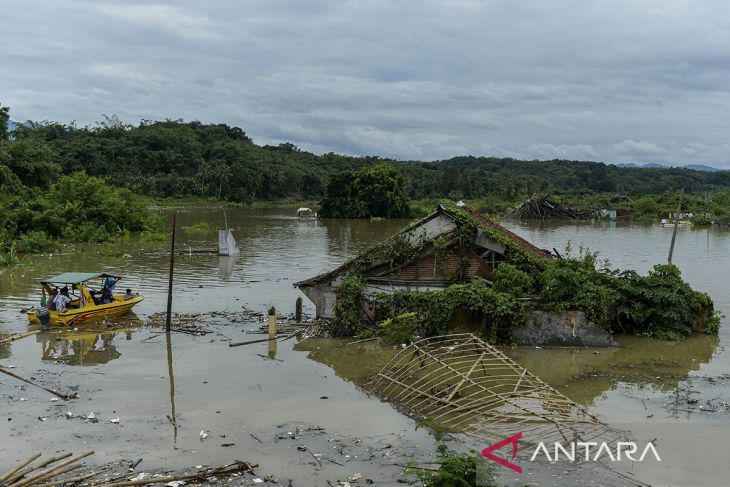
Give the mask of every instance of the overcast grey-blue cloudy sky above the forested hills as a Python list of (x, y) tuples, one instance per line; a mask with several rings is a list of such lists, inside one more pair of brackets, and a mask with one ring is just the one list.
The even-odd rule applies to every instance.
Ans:
[(259, 144), (730, 168), (730, 2), (4, 0), (14, 120)]

